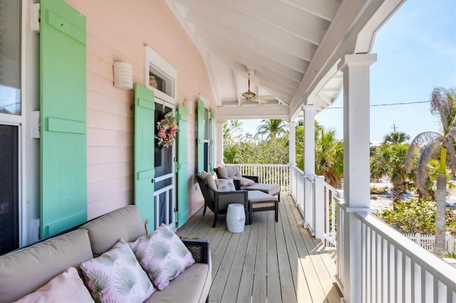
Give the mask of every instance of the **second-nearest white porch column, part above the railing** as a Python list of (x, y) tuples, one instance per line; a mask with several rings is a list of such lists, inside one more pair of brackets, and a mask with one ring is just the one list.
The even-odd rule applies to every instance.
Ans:
[(316, 108), (304, 106), (304, 174), (315, 174), (315, 114)]

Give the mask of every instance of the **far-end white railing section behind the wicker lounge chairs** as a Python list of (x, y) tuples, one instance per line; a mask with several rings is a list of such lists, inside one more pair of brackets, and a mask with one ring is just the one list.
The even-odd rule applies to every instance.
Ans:
[(258, 176), (259, 183), (279, 184), (281, 192), (290, 191), (290, 169), (288, 164), (226, 164), (239, 166), (241, 174)]

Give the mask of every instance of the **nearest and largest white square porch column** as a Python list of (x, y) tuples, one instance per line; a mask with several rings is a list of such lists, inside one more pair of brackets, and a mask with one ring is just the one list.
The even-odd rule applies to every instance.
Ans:
[[(369, 115), (370, 66), (377, 54), (346, 55), (339, 67), (343, 71), (343, 200), (346, 219), (342, 228), (341, 251), (343, 294), (346, 302), (361, 302), (362, 244), (361, 224), (354, 211), (366, 212), (371, 206)], [(340, 237), (338, 237), (340, 238)]]

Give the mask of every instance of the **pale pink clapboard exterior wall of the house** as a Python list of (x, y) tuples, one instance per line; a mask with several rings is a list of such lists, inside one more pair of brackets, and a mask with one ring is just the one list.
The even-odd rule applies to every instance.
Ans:
[[(177, 72), (177, 102), (202, 94), (215, 107), (202, 55), (164, 0), (67, 0), (87, 18), (88, 218), (133, 203), (134, 91), (113, 86), (113, 62), (133, 65), (133, 81), (145, 84), (145, 48), (150, 46)], [(195, 114), (190, 112), (188, 147), (195, 150)], [(195, 154), (189, 153), (189, 211), (202, 206), (195, 187)]]

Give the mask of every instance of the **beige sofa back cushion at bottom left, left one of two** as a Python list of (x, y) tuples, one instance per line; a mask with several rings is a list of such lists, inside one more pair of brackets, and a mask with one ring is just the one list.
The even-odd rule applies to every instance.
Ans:
[[(73, 230), (0, 256), (0, 298), (13, 302), (93, 258), (87, 230)], [(26, 274), (24, 274), (26, 273)]]

